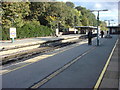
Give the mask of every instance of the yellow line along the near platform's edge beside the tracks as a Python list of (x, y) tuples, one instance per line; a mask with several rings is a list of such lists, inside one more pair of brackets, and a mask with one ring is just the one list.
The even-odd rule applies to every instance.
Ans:
[[(86, 43), (86, 41), (82, 42), (82, 44), (84, 44), (84, 43)], [(30, 64), (32, 64), (32, 63), (35, 63), (35, 62), (40, 61), (40, 60), (42, 60), (42, 59), (45, 59), (45, 58), (54, 56), (54, 55), (56, 55), (56, 54), (59, 54), (59, 53), (61, 53), (61, 52), (66, 51), (66, 50), (69, 50), (69, 49), (72, 49), (72, 48), (74, 48), (74, 47), (77, 47), (77, 46), (79, 46), (79, 45), (81, 45), (81, 43), (79, 43), (78, 45), (72, 46), (71, 48), (67, 48), (67, 49), (61, 50), (61, 51), (59, 51), (59, 52), (57, 52), (57, 53), (54, 53), (54, 54), (41, 55), (41, 56), (37, 56), (37, 57), (35, 57), (35, 58), (28, 59), (28, 60), (26, 60), (26, 61), (23, 61), (23, 62), (28, 63), (28, 64), (19, 66), (19, 67), (17, 67), (17, 68), (12, 69), (12, 70), (0, 70), (0, 75), (1, 75), (1, 74), (4, 75), (4, 74), (7, 74), (7, 73), (9, 73), (9, 72), (18, 70), (18, 69), (23, 68), (23, 67), (25, 67), (25, 66), (28, 66), (28, 65), (30, 65)]]

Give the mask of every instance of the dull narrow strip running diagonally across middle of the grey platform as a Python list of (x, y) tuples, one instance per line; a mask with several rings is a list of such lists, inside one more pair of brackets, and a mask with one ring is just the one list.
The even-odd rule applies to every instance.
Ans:
[(71, 62), (67, 63), (66, 65), (64, 65), (63, 67), (61, 67), (60, 69), (58, 69), (57, 71), (53, 72), (52, 74), (50, 74), (48, 77), (44, 78), (43, 80), (41, 80), (40, 82), (38, 82), (37, 84), (33, 85), (30, 88), (39, 88), (40, 86), (42, 86), (43, 84), (45, 84), (46, 82), (48, 82), (49, 80), (51, 80), (52, 78), (54, 78), (56, 75), (58, 75), (59, 73), (61, 73), (62, 71), (64, 71), (65, 69), (67, 69), (69, 66), (71, 66), (73, 63), (75, 63), (76, 61), (78, 61), (82, 56), (86, 55), (87, 53), (89, 53), (90, 51), (92, 51), (93, 49), (95, 49), (96, 47), (92, 47), (91, 49), (89, 49), (88, 51), (86, 51), (85, 53), (83, 53), (82, 55), (78, 56), (77, 58), (75, 58), (74, 60), (72, 60)]

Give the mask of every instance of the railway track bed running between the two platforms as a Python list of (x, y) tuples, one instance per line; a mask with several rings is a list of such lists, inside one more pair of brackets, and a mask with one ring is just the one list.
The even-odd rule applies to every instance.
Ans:
[[(46, 43), (41, 44), (38, 48), (33, 48), (30, 50), (22, 50), (22, 51), (18, 51), (15, 53), (2, 55), (1, 63), (2, 63), (2, 65), (6, 65), (6, 64), (13, 63), (13, 62), (24, 61), (26, 59), (33, 58), (38, 55), (43, 55), (44, 53), (53, 51), (55, 49), (65, 47), (65, 46), (68, 46), (71, 44), (75, 44), (75, 43), (80, 42), (85, 39), (86, 39), (86, 36), (82, 36), (79, 39), (75, 39), (75, 40), (71, 40), (71, 41), (57, 40), (57, 41), (53, 41), (53, 42), (46, 42)], [(16, 48), (14, 48), (14, 49), (16, 49)]]

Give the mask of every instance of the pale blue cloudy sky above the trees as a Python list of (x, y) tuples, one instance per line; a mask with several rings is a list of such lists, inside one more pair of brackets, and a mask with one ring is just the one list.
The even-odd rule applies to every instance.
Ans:
[[(59, 1), (68, 1), (68, 0), (59, 0)], [(69, 0), (75, 4), (75, 6), (82, 6), (90, 10), (104, 10), (100, 11), (99, 18), (101, 21), (110, 20), (111, 26), (118, 25), (118, 1), (119, 0)], [(119, 3), (120, 4), (120, 3)], [(120, 6), (120, 5), (119, 5)], [(93, 12), (96, 15), (98, 12)], [(114, 20), (114, 21), (111, 21)], [(108, 24), (108, 21), (106, 21)]]

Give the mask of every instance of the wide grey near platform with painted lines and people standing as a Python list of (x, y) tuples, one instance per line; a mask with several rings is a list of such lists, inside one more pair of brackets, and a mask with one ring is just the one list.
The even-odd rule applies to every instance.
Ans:
[[(25, 61), (21, 66), (18, 64), (17, 69), (17, 65), (11, 69), (6, 68), (4, 69), (6, 73), (2, 75), (3, 88), (120, 90), (119, 40), (120, 36), (117, 35), (113, 35), (110, 39), (100, 38), (100, 46), (96, 46), (96, 39), (93, 40), (92, 45), (84, 41), (85, 43), (76, 44), (77, 46), (72, 48), (48, 53), (46, 56), (49, 58), (41, 56), (42, 60), (37, 57), (39, 60)], [(26, 63), (28, 65), (25, 65)]]

